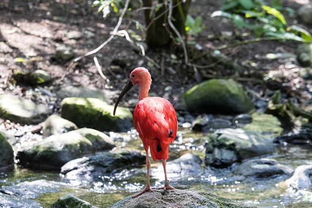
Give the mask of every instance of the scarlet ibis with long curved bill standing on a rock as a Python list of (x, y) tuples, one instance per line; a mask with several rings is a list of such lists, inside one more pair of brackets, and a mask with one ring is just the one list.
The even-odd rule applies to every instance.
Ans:
[(169, 143), (176, 138), (177, 118), (176, 111), (172, 104), (162, 97), (148, 97), (148, 92), (152, 83), (150, 73), (144, 67), (134, 69), (127, 85), (117, 98), (114, 115), (121, 98), (136, 84), (140, 85), (138, 103), (133, 113), (133, 121), (142, 140), (146, 152), (147, 182), (146, 187), (134, 197), (146, 191), (151, 191), (150, 186), (150, 159), (149, 149), (154, 161), (161, 160), (165, 173), (165, 186), (161, 189), (175, 189), (170, 186), (167, 178), (166, 161), (169, 154)]

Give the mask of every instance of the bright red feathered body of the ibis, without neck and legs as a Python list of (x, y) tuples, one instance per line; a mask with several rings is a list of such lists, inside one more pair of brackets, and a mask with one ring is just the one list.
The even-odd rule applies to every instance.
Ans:
[[(151, 154), (167, 159), (169, 143), (176, 138), (176, 111), (171, 103), (161, 97), (147, 97), (137, 103), (134, 124), (142, 140), (150, 146)], [(143, 141), (144, 143), (144, 141)]]

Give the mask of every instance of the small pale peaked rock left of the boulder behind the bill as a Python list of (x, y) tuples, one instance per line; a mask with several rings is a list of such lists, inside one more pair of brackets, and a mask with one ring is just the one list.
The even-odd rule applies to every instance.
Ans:
[(66, 133), (76, 129), (78, 129), (78, 127), (73, 122), (53, 114), (44, 121), (42, 135), (48, 137), (53, 134)]

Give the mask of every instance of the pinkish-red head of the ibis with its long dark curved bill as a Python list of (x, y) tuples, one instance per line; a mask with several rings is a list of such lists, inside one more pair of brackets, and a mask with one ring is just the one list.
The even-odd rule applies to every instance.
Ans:
[(123, 90), (121, 91), (120, 95), (117, 98), (117, 101), (115, 103), (115, 107), (114, 107), (114, 115), (116, 113), (116, 109), (118, 106), (118, 103), (120, 102), (121, 98), (126, 95), (126, 93), (136, 84), (139, 85), (148, 85), (148, 88), (150, 87), (152, 83), (152, 78), (151, 78), (151, 74), (148, 72), (147, 69), (145, 69), (144, 67), (137, 67), (136, 69), (134, 69), (129, 77), (129, 81), (126, 84), (126, 86), (123, 88)]

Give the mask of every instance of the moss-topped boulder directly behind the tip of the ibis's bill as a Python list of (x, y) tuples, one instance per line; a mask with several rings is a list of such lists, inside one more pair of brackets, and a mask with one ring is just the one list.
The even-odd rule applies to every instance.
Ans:
[(61, 117), (74, 122), (78, 127), (98, 131), (127, 132), (133, 128), (130, 110), (114, 106), (97, 98), (67, 97), (61, 102)]

